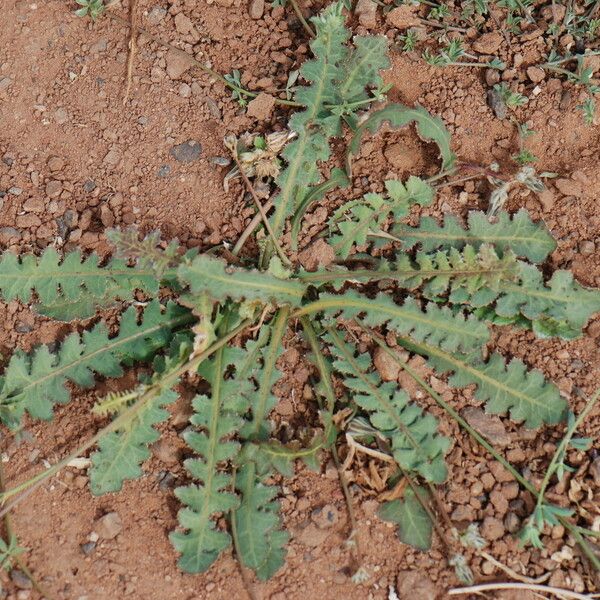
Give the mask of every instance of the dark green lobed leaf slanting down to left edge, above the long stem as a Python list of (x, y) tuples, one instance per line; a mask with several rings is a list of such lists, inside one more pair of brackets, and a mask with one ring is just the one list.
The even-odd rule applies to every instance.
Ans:
[(17, 351), (4, 372), (0, 390), (0, 419), (18, 425), (24, 412), (37, 419), (50, 419), (53, 405), (70, 399), (65, 384), (83, 388), (95, 385), (95, 373), (120, 377), (121, 364), (148, 360), (166, 346), (173, 330), (193, 322), (193, 315), (174, 303), (165, 310), (150, 302), (138, 323), (138, 312), (129, 307), (121, 316), (119, 333), (110, 338), (102, 322), (83, 334), (72, 333), (56, 352), (39, 346), (29, 354)]

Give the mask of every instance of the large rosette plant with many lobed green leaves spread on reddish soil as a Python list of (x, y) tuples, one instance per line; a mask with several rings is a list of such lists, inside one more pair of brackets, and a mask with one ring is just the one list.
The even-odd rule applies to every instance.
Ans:
[[(452, 442), (437, 418), (382, 379), (370, 352), (376, 346), (394, 356), (401, 347), (425, 357), (437, 373), (449, 375), (450, 386), (473, 386), (488, 412), (528, 428), (566, 419), (566, 401), (541, 372), (482, 349), (490, 341), (490, 323), (527, 328), (539, 337), (579, 336), (600, 311), (600, 293), (579, 285), (569, 271), (548, 277), (545, 261), (555, 242), (525, 210), (498, 210), (493, 220), (471, 212), (466, 225), (452, 216), (442, 223), (410, 219), (415, 208), (431, 205), (434, 182), (455, 171), (457, 157), (442, 121), (421, 107), (388, 104), (358, 119), (357, 111), (384, 93), (387, 40), (357, 36), (350, 43), (342, 7), (334, 3), (312, 19), (314, 58), (300, 68), (306, 85), (294, 94), (301, 109), (289, 121), (291, 141), (281, 153), (274, 212), (267, 217), (259, 211), (266, 232), (257, 235), (258, 256), (230, 264), (176, 242), (162, 244), (157, 234), (139, 239), (135, 231), (112, 232), (115, 256), (103, 263), (95, 254), (59, 256), (53, 248), (41, 256), (2, 255), (0, 292), (6, 301), (33, 303), (38, 313), (65, 321), (129, 305), (117, 327), (109, 329), (99, 318), (52, 346), (16, 351), (0, 382), (5, 425), (17, 428), (25, 415), (51, 419), (57, 404), (69, 402), (73, 387), (90, 389), (98, 377), (120, 377), (125, 368), (143, 366), (135, 385), (96, 403), (105, 427), (33, 480), (5, 491), (4, 512), (29, 486), (92, 448), (92, 493), (119, 491), (126, 480), (141, 476), (149, 445), (160, 437), (156, 427), (168, 420), (179, 386), (196, 389), (183, 434), (192, 455), (184, 462), (190, 482), (175, 490), (181, 509), (170, 535), (179, 565), (205, 571), (233, 545), (241, 563), (267, 579), (284, 564), (288, 538), (274, 475), (290, 476), (296, 460), (319, 468), (320, 453), (336, 444), (345, 427), (353, 427), (354, 439), (383, 442), (377, 452), (393, 461), (396, 479), (406, 477), (410, 491), (383, 505), (382, 516), (398, 523), (403, 541), (423, 550), (430, 546), (430, 500), (435, 485), (446, 480)], [(289, 250), (306, 243), (299, 239), (304, 214), (326, 193), (350, 184), (352, 157), (363, 137), (383, 124), (415, 125), (421, 139), (437, 145), (440, 173), (430, 180), (389, 180), (380, 193), (343, 204), (321, 234), (333, 262), (303, 269)], [(346, 126), (351, 141), (345, 170), (333, 169), (323, 180), (320, 164), (330, 159), (333, 140)], [(267, 146), (264, 138), (254, 151)], [(230, 148), (238, 158), (237, 146)], [(282, 247), (288, 232), (289, 246)], [(275, 386), (284, 377), (279, 359), (296, 339), (316, 380), (315, 419), (284, 442), (270, 415), (278, 402)], [(403, 368), (464, 426), (409, 365)], [(350, 423), (334, 418), (338, 410), (349, 411)], [(518, 473), (517, 479), (530, 486)], [(577, 530), (586, 547), (587, 530), (564, 515), (556, 519)], [(462, 554), (449, 560), (467, 576)]]

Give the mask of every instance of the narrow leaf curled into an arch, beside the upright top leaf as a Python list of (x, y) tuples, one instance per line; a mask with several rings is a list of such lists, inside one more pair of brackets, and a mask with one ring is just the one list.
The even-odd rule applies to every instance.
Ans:
[(403, 104), (388, 104), (385, 108), (372, 113), (354, 133), (346, 153), (346, 171), (352, 173), (352, 156), (357, 154), (366, 131), (375, 133), (384, 124), (394, 128), (416, 123), (419, 136), (426, 141), (435, 142), (440, 149), (442, 170), (450, 171), (454, 167), (456, 155), (450, 147), (450, 133), (439, 117), (434, 117), (422, 106), (410, 108)]

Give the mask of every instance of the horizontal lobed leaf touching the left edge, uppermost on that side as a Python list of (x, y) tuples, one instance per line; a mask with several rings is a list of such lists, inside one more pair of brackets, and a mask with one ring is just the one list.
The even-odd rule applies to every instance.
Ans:
[(156, 294), (158, 287), (151, 269), (138, 270), (119, 259), (101, 266), (96, 254), (83, 257), (79, 250), (62, 258), (52, 247), (39, 257), (5, 252), (0, 258), (0, 293), (5, 301), (29, 303), (35, 291), (39, 312), (65, 320), (91, 317), (98, 308), (131, 298), (136, 289)]

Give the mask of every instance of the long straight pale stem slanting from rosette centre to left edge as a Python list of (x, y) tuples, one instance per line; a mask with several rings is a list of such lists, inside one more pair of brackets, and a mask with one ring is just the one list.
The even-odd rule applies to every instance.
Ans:
[[(221, 348), (221, 346), (224, 346), (225, 344), (227, 344), (232, 338), (234, 338), (238, 333), (240, 333), (240, 331), (243, 331), (251, 323), (252, 323), (251, 319), (246, 319), (245, 321), (243, 321), (242, 323), (240, 323), (240, 325), (238, 325), (235, 329), (232, 329), (227, 335), (223, 336), (220, 340), (216, 341), (212, 346), (210, 346), (210, 348), (207, 348), (201, 354), (198, 354), (197, 356), (195, 356), (191, 360), (188, 360), (181, 367), (179, 367), (177, 370), (173, 371), (172, 373), (169, 373), (160, 382), (160, 389), (162, 389), (162, 388), (164, 388), (166, 386), (173, 385), (177, 381), (177, 379), (179, 379), (179, 377), (181, 375), (183, 375), (184, 373), (186, 373), (187, 371), (197, 369), (198, 366), (200, 365), (200, 363), (202, 361), (204, 361), (211, 354), (213, 354), (214, 352), (216, 352), (219, 348)], [(12, 510), (17, 504), (19, 504), (19, 502), (21, 502), (22, 500), (24, 500), (33, 491), (35, 491), (38, 487), (40, 487), (40, 485), (42, 485), (42, 483), (46, 479), (48, 479), (49, 477), (52, 477), (53, 475), (55, 475), (56, 473), (58, 473), (71, 460), (73, 460), (74, 458), (77, 458), (80, 454), (82, 454), (86, 450), (89, 450), (104, 435), (106, 435), (107, 433), (110, 433), (111, 431), (115, 431), (115, 430), (119, 429), (125, 423), (127, 423), (127, 421), (129, 421), (131, 418), (133, 418), (135, 416), (135, 414), (141, 408), (143, 408), (143, 406), (145, 405), (145, 403), (149, 399), (155, 397), (155, 395), (156, 395), (156, 388), (157, 388), (156, 385), (150, 386), (148, 388), (148, 390), (146, 390), (140, 396), (140, 398), (134, 404), (132, 404), (126, 411), (124, 411), (123, 413), (121, 413), (114, 421), (111, 421), (108, 425), (106, 425), (105, 427), (103, 427), (100, 431), (98, 431), (90, 439), (88, 439), (86, 442), (84, 442), (83, 444), (81, 444), (81, 446), (79, 446), (78, 448), (76, 448), (66, 458), (64, 458), (63, 460), (59, 461), (58, 463), (56, 463), (54, 466), (50, 467), (46, 471), (43, 471), (42, 473), (38, 473), (37, 475), (35, 475), (31, 479), (28, 479), (27, 481), (25, 481), (24, 483), (16, 485), (15, 487), (13, 487), (13, 488), (11, 488), (11, 489), (3, 492), (0, 495), (2, 503), (4, 503), (6, 500), (8, 500), (9, 498), (11, 498), (12, 496), (16, 495), (16, 498), (14, 498), (14, 500), (12, 500), (11, 502), (9, 502), (2, 510), (0, 510), (0, 517), (3, 517), (10, 510)]]

